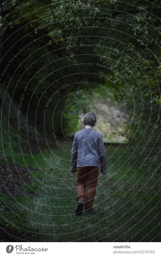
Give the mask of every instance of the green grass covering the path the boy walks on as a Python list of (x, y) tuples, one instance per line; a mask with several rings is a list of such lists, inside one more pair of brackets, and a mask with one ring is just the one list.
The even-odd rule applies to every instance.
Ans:
[[(126, 162), (126, 145), (106, 146), (109, 169), (98, 179), (102, 186), (97, 188), (94, 200), (97, 215), (77, 217), (77, 175), (71, 176), (69, 172), (71, 143), (61, 141), (61, 146), (67, 152), (58, 148), (33, 156), (14, 153), (16, 164), (38, 169), (31, 172), (33, 179), (28, 186), (18, 186), (27, 196), (1, 196), (14, 213), (3, 203), (1, 212), (20, 227), (20, 232), (29, 231), (31, 241), (39, 242), (149, 242), (154, 238), (159, 241), (159, 184), (153, 169), (145, 172), (146, 169), (130, 166)], [(121, 198), (128, 189), (129, 193)], [(113, 206), (105, 209), (110, 204)]]

